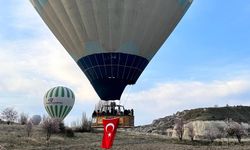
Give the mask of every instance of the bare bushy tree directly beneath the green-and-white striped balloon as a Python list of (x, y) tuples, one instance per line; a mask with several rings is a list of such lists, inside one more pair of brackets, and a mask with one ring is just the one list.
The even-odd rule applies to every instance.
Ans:
[(59, 123), (60, 123), (60, 120), (51, 119), (49, 117), (44, 116), (43, 122), (42, 122), (42, 128), (46, 132), (46, 140), (47, 141), (49, 141), (52, 133), (59, 132)]

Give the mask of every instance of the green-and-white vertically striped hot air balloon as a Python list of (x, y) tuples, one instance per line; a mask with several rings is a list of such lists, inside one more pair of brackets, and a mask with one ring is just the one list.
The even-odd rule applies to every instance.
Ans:
[(58, 86), (51, 88), (44, 95), (44, 107), (50, 117), (63, 120), (75, 103), (75, 95), (71, 89)]

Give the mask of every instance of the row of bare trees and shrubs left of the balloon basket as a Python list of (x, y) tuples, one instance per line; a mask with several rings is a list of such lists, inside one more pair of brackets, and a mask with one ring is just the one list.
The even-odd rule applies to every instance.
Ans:
[(74, 121), (70, 127), (65, 127), (64, 123), (60, 119), (50, 118), (46, 115), (41, 117), (40, 115), (33, 115), (29, 117), (26, 113), (20, 113), (14, 108), (5, 108), (0, 112), (0, 124), (7, 125), (23, 125), (27, 137), (32, 136), (32, 130), (34, 125), (39, 125), (43, 129), (46, 135), (46, 141), (49, 143), (53, 134), (63, 134), (67, 137), (74, 137), (74, 132), (91, 132), (91, 119), (87, 118), (85, 112), (82, 113), (81, 121)]

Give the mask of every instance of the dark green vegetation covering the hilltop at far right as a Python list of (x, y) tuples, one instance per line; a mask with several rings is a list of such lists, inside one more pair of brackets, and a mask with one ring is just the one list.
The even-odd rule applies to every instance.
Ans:
[(192, 109), (184, 113), (183, 118), (187, 121), (211, 121), (211, 120), (226, 120), (228, 118), (236, 122), (250, 122), (250, 107), (249, 106), (228, 106), (228, 107), (213, 107), (213, 108), (198, 108)]

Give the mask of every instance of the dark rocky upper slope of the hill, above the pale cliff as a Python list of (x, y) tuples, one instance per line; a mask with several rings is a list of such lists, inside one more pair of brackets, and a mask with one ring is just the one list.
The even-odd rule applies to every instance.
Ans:
[(209, 107), (184, 110), (174, 115), (154, 120), (149, 125), (137, 126), (133, 130), (146, 133), (165, 134), (166, 130), (174, 127), (176, 118), (183, 118), (185, 122), (191, 121), (226, 121), (232, 119), (236, 122), (250, 122), (249, 106)]

